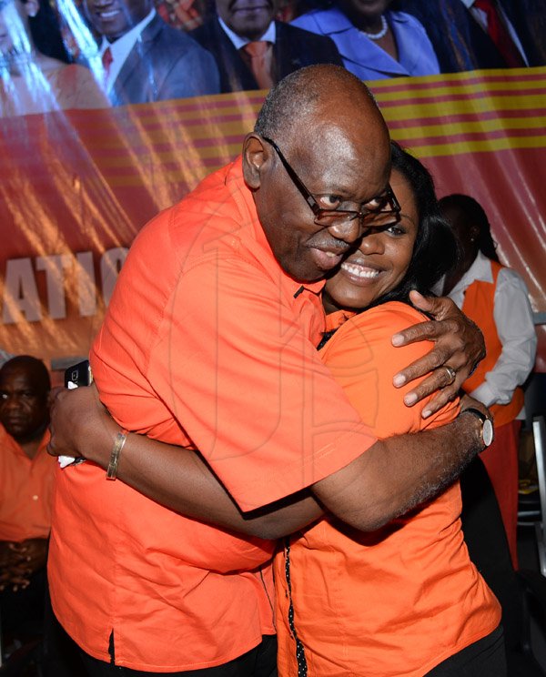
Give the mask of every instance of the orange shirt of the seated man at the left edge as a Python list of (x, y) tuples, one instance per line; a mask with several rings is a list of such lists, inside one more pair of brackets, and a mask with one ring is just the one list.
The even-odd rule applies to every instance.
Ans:
[(45, 450), (46, 432), (34, 459), (0, 426), (0, 541), (49, 536), (56, 459)]

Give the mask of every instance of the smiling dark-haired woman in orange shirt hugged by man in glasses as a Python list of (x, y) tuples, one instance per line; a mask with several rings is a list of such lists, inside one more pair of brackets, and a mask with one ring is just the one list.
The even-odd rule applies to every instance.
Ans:
[[(426, 350), (414, 345), (401, 354), (390, 342), (422, 318), (409, 291), (424, 291), (457, 251), (429, 173), (392, 150), (399, 221), (372, 228), (329, 278), (330, 331), (321, 350), (379, 439), (440, 426), (459, 406), (423, 421), (424, 403), (408, 409), (392, 387), (399, 365)], [(327, 516), (287, 539), (275, 561), (280, 677), (505, 674), (499, 605), (470, 562), (460, 510), (456, 483), (381, 530), (362, 533)], [(490, 651), (485, 662), (482, 651)]]

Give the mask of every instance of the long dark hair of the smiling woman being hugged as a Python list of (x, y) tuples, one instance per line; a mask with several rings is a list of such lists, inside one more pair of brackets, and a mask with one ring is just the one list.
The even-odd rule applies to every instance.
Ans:
[(392, 169), (399, 171), (410, 184), (417, 207), (419, 228), (405, 277), (397, 288), (377, 298), (373, 306), (392, 300), (409, 303), (412, 289), (417, 289), (421, 294), (430, 293), (430, 289), (442, 275), (455, 266), (460, 256), (457, 240), (440, 213), (429, 170), (395, 141), (390, 142), (390, 147)]

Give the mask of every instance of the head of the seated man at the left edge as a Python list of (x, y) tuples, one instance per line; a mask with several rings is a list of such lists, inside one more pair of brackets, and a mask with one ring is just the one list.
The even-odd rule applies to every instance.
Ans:
[(50, 388), (44, 362), (30, 355), (10, 359), (0, 369), (0, 422), (18, 442), (43, 434)]

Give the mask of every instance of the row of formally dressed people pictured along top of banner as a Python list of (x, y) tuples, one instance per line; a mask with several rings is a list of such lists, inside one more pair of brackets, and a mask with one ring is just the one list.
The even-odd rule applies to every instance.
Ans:
[(2, 0), (1, 115), (546, 64), (544, 0)]

